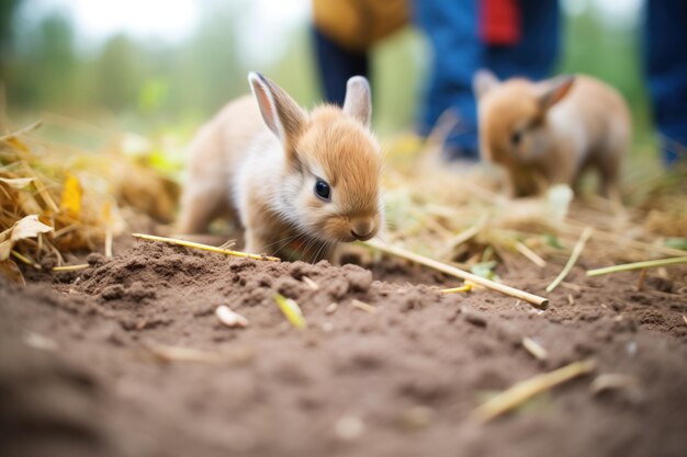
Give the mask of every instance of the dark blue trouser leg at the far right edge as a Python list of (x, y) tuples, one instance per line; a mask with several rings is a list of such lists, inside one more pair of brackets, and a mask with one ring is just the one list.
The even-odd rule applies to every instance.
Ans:
[(647, 1), (644, 66), (666, 165), (685, 159), (687, 148), (686, 23), (684, 0)]

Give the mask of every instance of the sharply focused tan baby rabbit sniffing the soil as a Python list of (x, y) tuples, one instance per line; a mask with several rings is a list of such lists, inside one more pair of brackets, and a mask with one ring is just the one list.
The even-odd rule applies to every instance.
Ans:
[(178, 229), (202, 232), (228, 215), (245, 228), (246, 251), (309, 262), (374, 237), (382, 157), (368, 81), (348, 80), (344, 108), (309, 113), (262, 75), (248, 82), (252, 98), (230, 102), (191, 145)]

